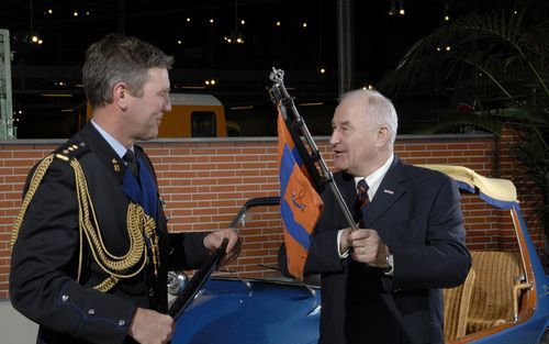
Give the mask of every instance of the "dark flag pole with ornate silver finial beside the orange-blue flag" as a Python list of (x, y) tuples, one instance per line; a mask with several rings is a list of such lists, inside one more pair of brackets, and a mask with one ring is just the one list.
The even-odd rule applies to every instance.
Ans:
[[(343, 211), (350, 230), (357, 230), (357, 223), (352, 219), (352, 214), (350, 213), (349, 208), (345, 203), (339, 189), (334, 182), (334, 176), (332, 175), (332, 171), (322, 158), (321, 153), (318, 152), (318, 148), (316, 147), (316, 144), (311, 136), (305, 122), (303, 121), (303, 118), (298, 112), (292, 97), (290, 97), (288, 90), (285, 89), (284, 71), (282, 69), (276, 69), (274, 67), (272, 67), (272, 71), (269, 78), (272, 82), (274, 82), (274, 85), (269, 90), (271, 100), (279, 108), (279, 112), (283, 118), (288, 132), (291, 135), (299, 155), (303, 159), (303, 165), (306, 168), (312, 184), (318, 192), (324, 190), (325, 186), (329, 188), (329, 190), (336, 198), (337, 204)], [(290, 111), (288, 111), (288, 109)], [(301, 140), (301, 136), (303, 136), (303, 138), (305, 140), (309, 149), (305, 147), (305, 144)], [(315, 167), (315, 163), (318, 164), (322, 176), (320, 175), (318, 169)], [(281, 201), (282, 197), (283, 196), (281, 195)]]

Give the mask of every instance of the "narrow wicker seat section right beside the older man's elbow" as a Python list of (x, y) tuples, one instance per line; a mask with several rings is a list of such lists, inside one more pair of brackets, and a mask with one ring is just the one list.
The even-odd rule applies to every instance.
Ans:
[(456, 288), (442, 289), (445, 301), (445, 341), (459, 340), (466, 335), (475, 273), (471, 268), (466, 281)]

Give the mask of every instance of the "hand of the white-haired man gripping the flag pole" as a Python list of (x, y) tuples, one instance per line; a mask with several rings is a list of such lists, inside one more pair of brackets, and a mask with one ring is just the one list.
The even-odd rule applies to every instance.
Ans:
[[(344, 235), (341, 235), (343, 242)], [(389, 247), (383, 243), (376, 230), (359, 229), (346, 237), (352, 247), (351, 258), (373, 267), (385, 268)], [(341, 244), (343, 246), (343, 244)]]

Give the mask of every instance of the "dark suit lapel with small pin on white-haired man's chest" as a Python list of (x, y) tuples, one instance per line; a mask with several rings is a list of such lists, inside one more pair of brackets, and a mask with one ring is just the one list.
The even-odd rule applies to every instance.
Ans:
[(395, 156), (378, 191), (376, 191), (373, 200), (362, 210), (362, 222), (366, 228), (371, 228), (376, 220), (407, 191), (405, 181), (406, 176), (403, 173), (402, 162)]

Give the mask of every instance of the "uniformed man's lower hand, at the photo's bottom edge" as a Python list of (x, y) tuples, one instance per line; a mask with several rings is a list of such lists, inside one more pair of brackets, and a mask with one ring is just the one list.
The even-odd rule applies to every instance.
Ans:
[(141, 344), (165, 344), (171, 340), (175, 329), (171, 317), (137, 308), (128, 334)]

